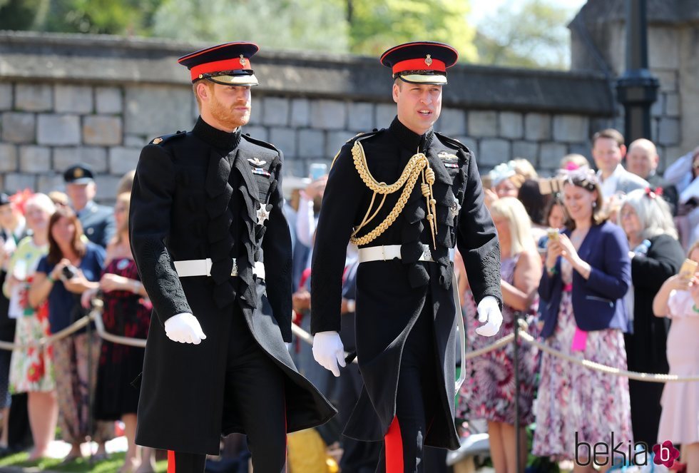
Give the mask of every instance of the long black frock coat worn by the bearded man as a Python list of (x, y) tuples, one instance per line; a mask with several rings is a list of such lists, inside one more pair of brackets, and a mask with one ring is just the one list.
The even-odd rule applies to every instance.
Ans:
[[(224, 409), (233, 317), (285, 374), (287, 432), (326, 422), (335, 409), (296, 370), (291, 341), (291, 240), (282, 212), (282, 155), (268, 143), (225, 133), (201, 118), (193, 131), (156, 138), (141, 152), (131, 193), (131, 248), (153, 302), (138, 405), (136, 443), (218, 454), (221, 434), (243, 432)], [(270, 216), (257, 224), (257, 209)], [(266, 234), (266, 238), (265, 237)], [(175, 260), (211, 258), (211, 276), (178, 278)], [(232, 260), (238, 276), (231, 276)], [(265, 263), (264, 281), (254, 278)], [(206, 339), (178, 343), (169, 317), (190, 312)], [(229, 406), (232, 403), (226, 402)], [(260, 418), (260, 422), (266, 422)]]

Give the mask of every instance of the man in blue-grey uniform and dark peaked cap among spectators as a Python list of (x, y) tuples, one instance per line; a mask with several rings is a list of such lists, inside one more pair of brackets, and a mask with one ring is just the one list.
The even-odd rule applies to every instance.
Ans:
[(63, 180), (66, 182), (66, 194), (83, 225), (86, 237), (92, 243), (106, 248), (116, 232), (114, 210), (106, 205), (98, 205), (93, 200), (97, 187), (92, 168), (83, 163), (71, 166), (63, 173)]

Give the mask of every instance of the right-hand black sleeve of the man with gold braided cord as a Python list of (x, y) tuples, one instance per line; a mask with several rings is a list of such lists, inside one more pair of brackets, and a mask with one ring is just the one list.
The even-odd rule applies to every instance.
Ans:
[[(464, 150), (458, 151), (463, 158)], [(463, 161), (462, 161), (463, 162)], [(500, 288), (500, 244), (488, 209), (484, 204), (481, 176), (470, 156), (464, 165), (466, 190), (459, 212), (456, 245), (464, 258), (469, 285), (476, 304), (486, 295), (495, 297), (502, 308)]]

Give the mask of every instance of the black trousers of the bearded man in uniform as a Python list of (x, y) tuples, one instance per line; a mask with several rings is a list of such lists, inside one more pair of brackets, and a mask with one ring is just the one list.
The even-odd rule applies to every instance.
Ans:
[[(242, 313), (235, 310), (233, 317), (223, 410), (243, 424), (255, 473), (280, 473), (286, 464), (284, 374), (257, 345)], [(205, 455), (168, 454), (168, 473), (202, 473), (204, 467)]]

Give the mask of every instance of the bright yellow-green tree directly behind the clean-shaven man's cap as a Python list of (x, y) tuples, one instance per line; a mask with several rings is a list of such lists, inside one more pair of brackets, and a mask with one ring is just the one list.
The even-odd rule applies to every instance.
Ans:
[(347, 0), (350, 51), (377, 56), (407, 41), (444, 41), (474, 61), (475, 29), (466, 0)]

